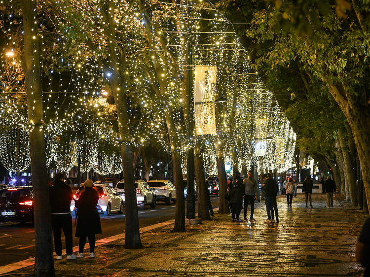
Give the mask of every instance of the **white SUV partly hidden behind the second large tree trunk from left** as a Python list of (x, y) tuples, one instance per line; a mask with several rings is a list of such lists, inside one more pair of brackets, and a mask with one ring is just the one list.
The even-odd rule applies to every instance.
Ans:
[[(136, 201), (140, 209), (146, 209), (147, 204), (151, 208), (155, 208), (157, 198), (154, 189), (150, 188), (148, 183), (144, 180), (135, 181), (136, 187)], [(121, 196), (123, 202), (125, 201), (125, 185), (123, 180), (115, 185), (115, 191)]]

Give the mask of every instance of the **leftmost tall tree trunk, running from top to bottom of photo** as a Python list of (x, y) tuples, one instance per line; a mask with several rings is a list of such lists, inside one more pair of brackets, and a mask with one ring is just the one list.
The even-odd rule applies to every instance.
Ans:
[(36, 1), (23, 0), (24, 53), (35, 213), (35, 276), (55, 276), (49, 186), (45, 158)]

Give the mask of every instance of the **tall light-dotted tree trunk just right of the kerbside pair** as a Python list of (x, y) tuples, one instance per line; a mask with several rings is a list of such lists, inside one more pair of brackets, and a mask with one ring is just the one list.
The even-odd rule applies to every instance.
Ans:
[[(123, 179), (125, 183), (125, 220), (126, 236), (125, 247), (130, 249), (142, 248), (139, 229), (138, 206), (134, 175), (134, 152), (131, 144), (130, 121), (127, 111), (127, 91), (124, 71), (126, 68), (126, 48), (120, 48), (115, 38), (114, 8), (112, 1), (106, 2), (101, 9), (107, 28), (104, 29), (108, 40), (110, 59), (108, 61), (112, 76), (109, 79), (111, 93), (117, 109), (119, 136), (122, 141), (121, 156), (123, 165)], [(120, 52), (118, 49), (121, 49)], [(119, 59), (120, 58), (120, 59)], [(100, 61), (103, 66), (103, 61)], [(119, 69), (117, 69), (119, 67)]]

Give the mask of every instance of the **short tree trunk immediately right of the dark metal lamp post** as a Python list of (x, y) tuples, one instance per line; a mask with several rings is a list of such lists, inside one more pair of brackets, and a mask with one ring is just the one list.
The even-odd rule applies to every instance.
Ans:
[(196, 176), (196, 185), (198, 190), (198, 217), (202, 220), (210, 220), (207, 191), (208, 184), (204, 178), (203, 159), (196, 147), (194, 151), (194, 168)]

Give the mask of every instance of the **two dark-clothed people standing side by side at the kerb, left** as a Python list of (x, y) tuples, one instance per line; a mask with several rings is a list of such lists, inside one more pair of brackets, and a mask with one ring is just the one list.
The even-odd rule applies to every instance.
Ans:
[(73, 253), (72, 239), (72, 215), (70, 211), (71, 201), (73, 199), (72, 189), (65, 183), (62, 173), (55, 174), (55, 183), (50, 186), (50, 207), (51, 207), (51, 225), (54, 236), (55, 252), (57, 260), (62, 257), (62, 230), (66, 238), (67, 259), (74, 260), (83, 258), (83, 248), (85, 247), (86, 238), (89, 239), (90, 252), (89, 257), (94, 258), (95, 234), (102, 233), (100, 217), (96, 205), (99, 201), (99, 195), (93, 189), (93, 181), (87, 179), (81, 185), (84, 190), (75, 201), (77, 208), (77, 226), (75, 237), (79, 238), (78, 254)]

